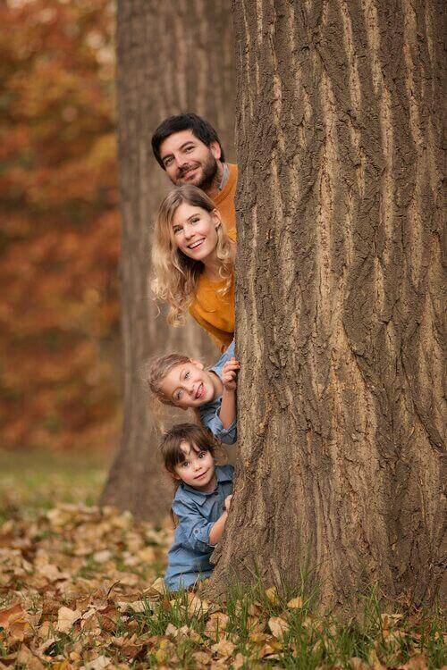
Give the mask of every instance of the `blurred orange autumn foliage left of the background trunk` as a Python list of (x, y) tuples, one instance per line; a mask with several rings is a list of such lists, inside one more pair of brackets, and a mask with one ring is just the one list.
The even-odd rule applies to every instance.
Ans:
[(3, 448), (116, 438), (114, 4), (0, 4)]

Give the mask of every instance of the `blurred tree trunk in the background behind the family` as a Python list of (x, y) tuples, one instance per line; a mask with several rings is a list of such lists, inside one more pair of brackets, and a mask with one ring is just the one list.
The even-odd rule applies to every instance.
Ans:
[(215, 125), (232, 154), (229, 11), (226, 0), (118, 2), (124, 417), (103, 502), (154, 520), (166, 513), (172, 492), (162, 475), (156, 421), (139, 384), (139, 366), (148, 355), (181, 351), (203, 357), (214, 347), (195, 323), (174, 329), (164, 315), (156, 318), (148, 296), (151, 221), (170, 187), (150, 140), (166, 116), (192, 110)]

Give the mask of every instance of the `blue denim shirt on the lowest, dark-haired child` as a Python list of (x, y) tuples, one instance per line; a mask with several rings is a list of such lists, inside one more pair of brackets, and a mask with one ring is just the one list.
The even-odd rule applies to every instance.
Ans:
[(168, 590), (189, 589), (211, 576), (215, 549), (209, 544), (211, 526), (223, 513), (223, 503), (232, 494), (232, 465), (215, 466), (215, 490), (203, 493), (181, 482), (173, 498), (173, 513), (179, 520), (173, 546), (168, 552), (164, 582)]

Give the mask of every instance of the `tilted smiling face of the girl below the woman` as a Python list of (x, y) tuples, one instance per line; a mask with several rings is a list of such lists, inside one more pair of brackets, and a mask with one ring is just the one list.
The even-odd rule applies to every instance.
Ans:
[(160, 389), (173, 405), (188, 409), (222, 395), (222, 382), (215, 373), (204, 370), (202, 363), (191, 358), (187, 363), (175, 365), (164, 377)]

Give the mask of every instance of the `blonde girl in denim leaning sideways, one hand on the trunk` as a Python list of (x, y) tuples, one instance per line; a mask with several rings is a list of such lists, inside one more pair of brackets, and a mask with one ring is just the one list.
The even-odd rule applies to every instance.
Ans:
[(209, 370), (194, 358), (169, 354), (149, 361), (143, 373), (154, 396), (164, 405), (192, 409), (198, 420), (225, 444), (236, 441), (236, 388), (240, 364), (234, 340)]

